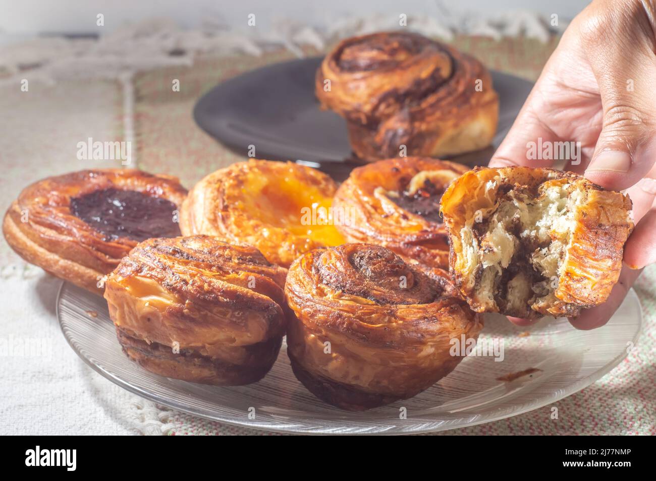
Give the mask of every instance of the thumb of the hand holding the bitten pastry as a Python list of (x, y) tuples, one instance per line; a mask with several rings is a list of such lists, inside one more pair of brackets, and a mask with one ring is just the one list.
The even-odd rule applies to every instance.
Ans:
[(648, 1), (599, 1), (579, 24), (581, 45), (597, 79), (604, 119), (585, 176), (623, 190), (656, 161), (656, 55)]

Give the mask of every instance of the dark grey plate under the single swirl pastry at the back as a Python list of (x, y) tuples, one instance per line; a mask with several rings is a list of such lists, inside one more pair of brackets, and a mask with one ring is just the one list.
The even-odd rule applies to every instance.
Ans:
[[(255, 145), (258, 159), (302, 160), (335, 176), (348, 175), (354, 163), (346, 122), (319, 109), (314, 73), (321, 58), (304, 58), (262, 67), (220, 83), (194, 107), (196, 123), (237, 153)], [(533, 84), (520, 77), (492, 71), (499, 92), (499, 127), (486, 149), (452, 160), (486, 165), (506, 136)]]

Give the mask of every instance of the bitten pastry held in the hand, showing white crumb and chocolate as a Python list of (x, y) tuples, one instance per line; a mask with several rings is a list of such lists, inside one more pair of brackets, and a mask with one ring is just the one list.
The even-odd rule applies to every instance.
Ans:
[(617, 282), (630, 210), (628, 196), (571, 172), (476, 168), (441, 200), (451, 275), (478, 312), (577, 316)]

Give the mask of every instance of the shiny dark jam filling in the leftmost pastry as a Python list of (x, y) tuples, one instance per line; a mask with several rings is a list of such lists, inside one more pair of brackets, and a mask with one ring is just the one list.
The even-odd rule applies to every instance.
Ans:
[(177, 206), (167, 199), (114, 188), (71, 199), (71, 212), (104, 235), (142, 241), (151, 237), (178, 237), (174, 221)]

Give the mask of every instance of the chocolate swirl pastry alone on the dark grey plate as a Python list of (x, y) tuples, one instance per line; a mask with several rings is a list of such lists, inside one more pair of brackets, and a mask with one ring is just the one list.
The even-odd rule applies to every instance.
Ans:
[(415, 33), (373, 33), (340, 42), (316, 73), (324, 108), (342, 115), (366, 161), (441, 157), (489, 145), (499, 98), (478, 60)]

